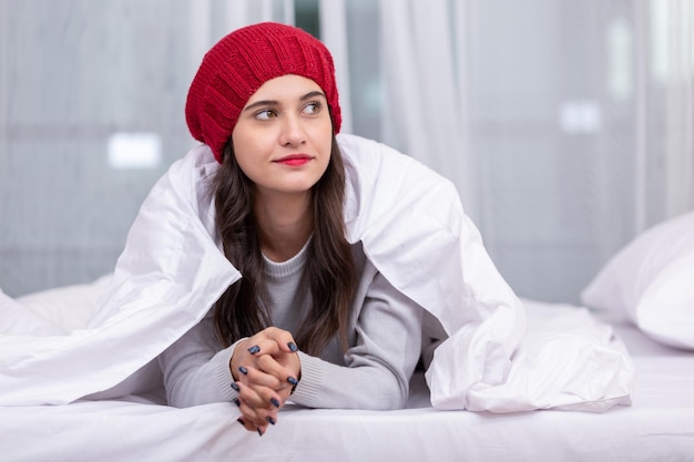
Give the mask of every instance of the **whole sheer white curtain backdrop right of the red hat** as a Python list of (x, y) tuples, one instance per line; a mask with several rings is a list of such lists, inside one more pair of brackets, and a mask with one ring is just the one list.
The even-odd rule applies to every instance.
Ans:
[[(376, 97), (350, 73), (355, 131), (453, 181), (520, 295), (578, 301), (694, 207), (693, 4), (380, 0), (366, 23), (346, 2), (349, 65), (380, 80)], [(378, 130), (360, 126), (375, 102)]]

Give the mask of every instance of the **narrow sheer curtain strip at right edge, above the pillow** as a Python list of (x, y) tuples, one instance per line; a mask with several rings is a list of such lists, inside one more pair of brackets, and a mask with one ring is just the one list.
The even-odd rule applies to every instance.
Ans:
[(694, 208), (694, 2), (634, 1), (634, 234)]

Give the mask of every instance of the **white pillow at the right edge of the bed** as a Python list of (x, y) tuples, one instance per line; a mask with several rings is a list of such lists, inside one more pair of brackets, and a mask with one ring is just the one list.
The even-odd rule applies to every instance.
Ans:
[(625, 315), (662, 343), (694, 349), (694, 212), (639, 235), (598, 273), (581, 301)]

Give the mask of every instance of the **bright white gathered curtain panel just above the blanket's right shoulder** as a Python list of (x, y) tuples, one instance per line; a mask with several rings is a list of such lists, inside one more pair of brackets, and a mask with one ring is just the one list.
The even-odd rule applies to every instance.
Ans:
[(458, 75), (461, 16), (448, 0), (381, 0), (382, 141), (451, 179), (466, 196)]

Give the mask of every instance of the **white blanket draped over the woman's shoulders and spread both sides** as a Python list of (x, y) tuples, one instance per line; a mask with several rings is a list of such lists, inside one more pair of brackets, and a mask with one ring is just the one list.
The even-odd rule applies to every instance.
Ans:
[[(455, 187), (417, 161), (339, 135), (348, 240), (436, 317), (449, 336), (427, 371), (440, 409), (603, 410), (629, 403), (633, 370), (609, 326), (589, 314), (530, 322), (499, 275)], [(143, 203), (112, 283), (69, 331), (0, 291), (0, 405), (69, 403), (133, 380), (197, 324), (242, 275), (224, 257), (207, 146), (172, 165)], [(134, 383), (123, 390), (123, 383)]]

